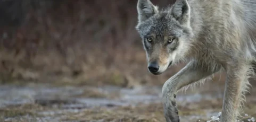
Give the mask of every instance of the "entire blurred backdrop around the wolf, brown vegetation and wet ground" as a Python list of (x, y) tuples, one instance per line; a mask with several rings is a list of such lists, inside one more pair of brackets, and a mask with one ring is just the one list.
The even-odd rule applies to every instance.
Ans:
[[(152, 0), (160, 7), (174, 2)], [(135, 30), (136, 4), (1, 0), (0, 119), (164, 121), (162, 85), (184, 64), (158, 76), (147, 71)], [(217, 115), (224, 78), (217, 74), (212, 81), (216, 86), (209, 82), (180, 95), (181, 119), (203, 121)], [(254, 100), (247, 107), (251, 115)]]

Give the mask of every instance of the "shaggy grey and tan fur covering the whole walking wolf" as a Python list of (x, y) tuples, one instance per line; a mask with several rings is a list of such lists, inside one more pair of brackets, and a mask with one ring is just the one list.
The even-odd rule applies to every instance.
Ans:
[(254, 0), (177, 0), (164, 9), (138, 0), (136, 29), (148, 64), (159, 65), (154, 74), (163, 73), (170, 64), (187, 62), (163, 85), (168, 122), (179, 121), (177, 91), (219, 71), (226, 72), (221, 122), (233, 122), (241, 114), (250, 85), (247, 79), (256, 65), (255, 10)]

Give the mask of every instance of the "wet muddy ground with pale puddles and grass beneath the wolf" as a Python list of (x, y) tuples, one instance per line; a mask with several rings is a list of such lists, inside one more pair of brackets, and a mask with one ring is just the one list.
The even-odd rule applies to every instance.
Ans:
[[(161, 86), (1, 85), (0, 121), (165, 121)], [(207, 121), (221, 111), (223, 85), (205, 83), (177, 94), (180, 121)], [(256, 117), (256, 90), (244, 121)], [(241, 120), (242, 121), (242, 120)]]

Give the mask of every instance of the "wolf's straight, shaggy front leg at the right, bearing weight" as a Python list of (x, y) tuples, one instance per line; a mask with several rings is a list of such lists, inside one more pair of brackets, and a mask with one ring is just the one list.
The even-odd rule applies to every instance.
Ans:
[(244, 64), (227, 68), (221, 122), (233, 122), (240, 115), (241, 102), (245, 100), (244, 95), (248, 90), (247, 76), (249, 73), (249, 66)]

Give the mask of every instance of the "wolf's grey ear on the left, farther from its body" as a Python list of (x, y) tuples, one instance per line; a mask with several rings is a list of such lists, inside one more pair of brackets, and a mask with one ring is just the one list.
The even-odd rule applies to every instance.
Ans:
[(138, 0), (137, 11), (139, 22), (143, 22), (158, 13), (158, 7), (154, 6), (150, 0)]

